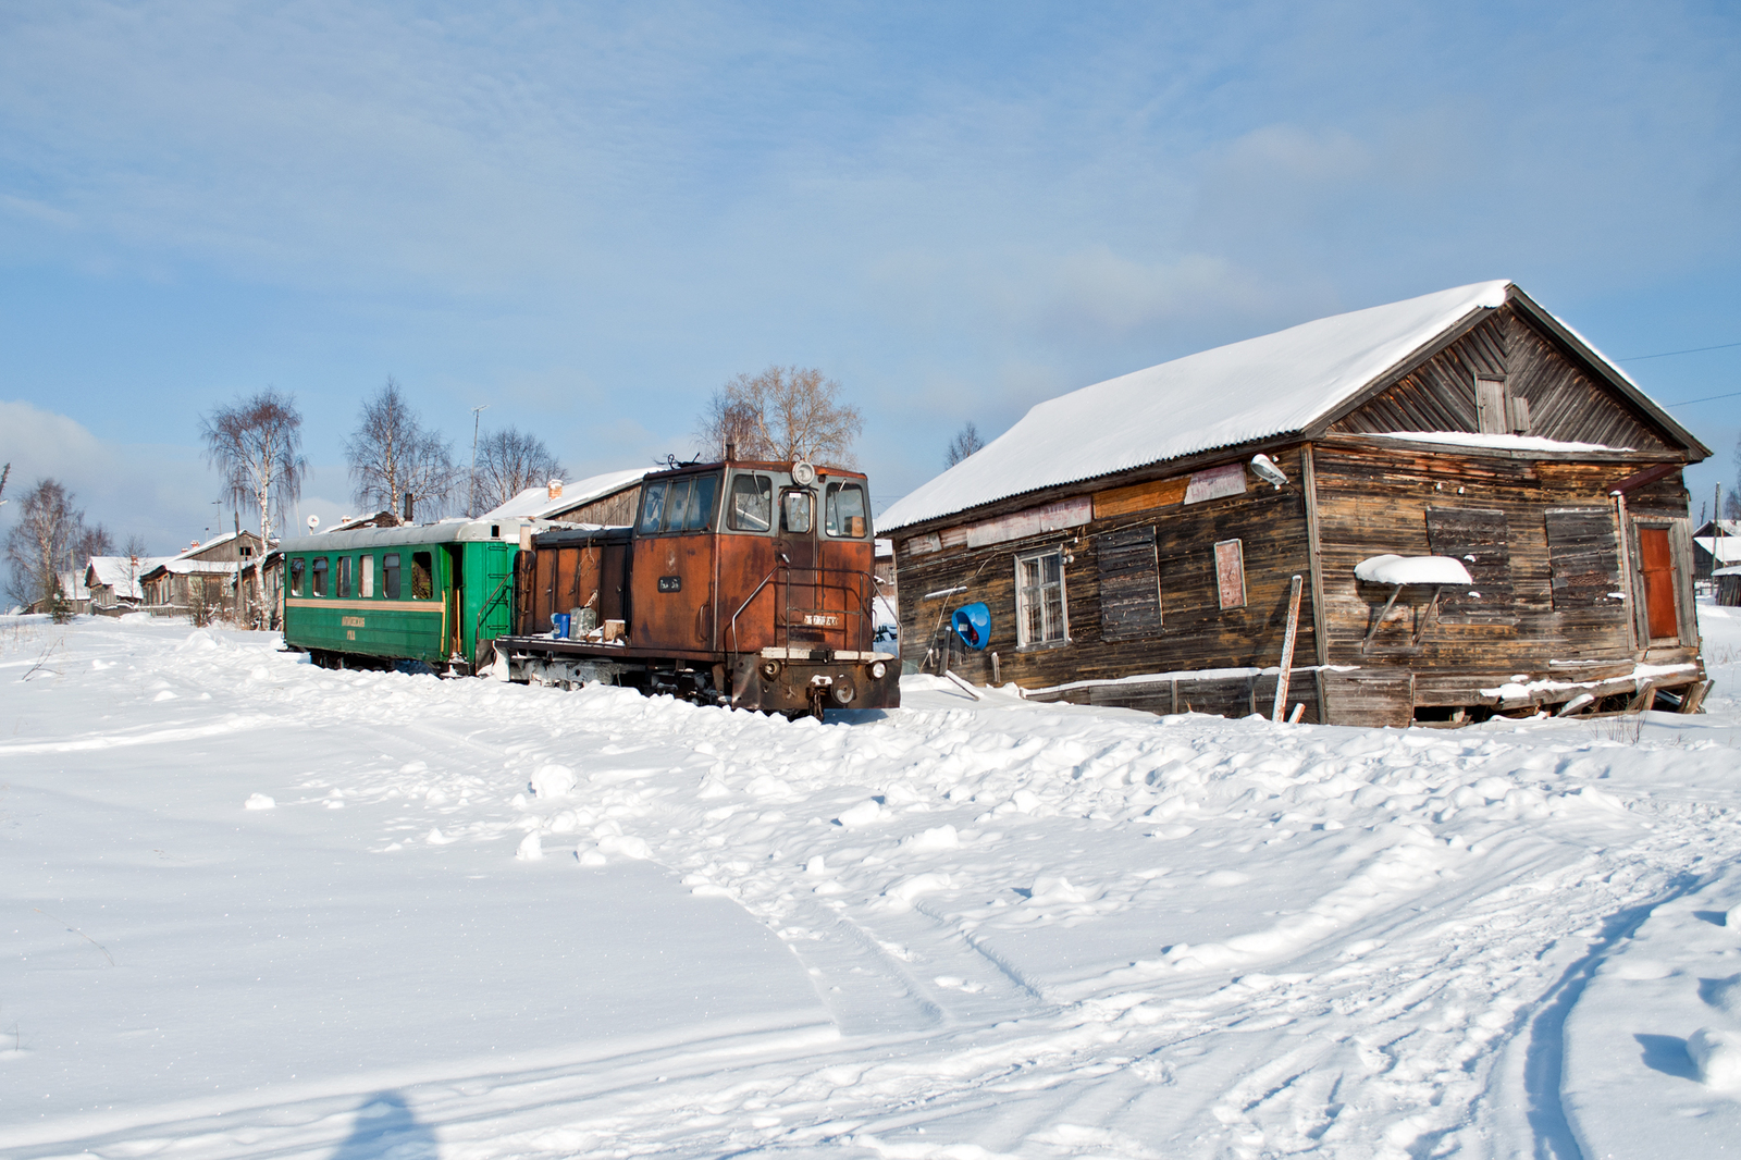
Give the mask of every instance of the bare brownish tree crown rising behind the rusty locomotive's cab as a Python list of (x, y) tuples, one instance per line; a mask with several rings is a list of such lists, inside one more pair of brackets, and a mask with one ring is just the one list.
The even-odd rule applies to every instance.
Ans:
[(738, 374), (714, 392), (696, 434), (709, 455), (729, 441), (747, 460), (851, 467), (860, 430), (864, 416), (841, 401), (836, 380), (813, 368), (771, 366), (754, 378)]

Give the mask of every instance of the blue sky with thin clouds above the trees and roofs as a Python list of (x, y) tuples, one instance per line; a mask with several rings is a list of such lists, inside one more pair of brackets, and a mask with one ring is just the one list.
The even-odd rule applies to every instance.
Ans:
[[(888, 500), (963, 420), (1464, 282), (1736, 343), (1738, 78), (1725, 3), (5, 3), (0, 458), (167, 550), (266, 385), (331, 519), (388, 374), (578, 477), (818, 366)], [(1741, 392), (1741, 347), (1626, 366)], [(1741, 397), (1675, 415), (1697, 516)]]

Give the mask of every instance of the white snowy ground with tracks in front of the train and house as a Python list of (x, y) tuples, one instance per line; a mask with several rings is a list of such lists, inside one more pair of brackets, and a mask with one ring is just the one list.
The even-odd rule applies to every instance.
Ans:
[(1741, 1151), (1701, 617), (1704, 716), (1455, 732), (924, 678), (794, 725), (0, 618), (0, 1151)]

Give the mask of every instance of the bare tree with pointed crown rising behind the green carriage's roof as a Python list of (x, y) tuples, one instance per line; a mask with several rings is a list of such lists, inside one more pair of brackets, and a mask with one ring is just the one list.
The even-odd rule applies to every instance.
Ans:
[(423, 430), (418, 413), (388, 376), (362, 404), (357, 430), (345, 441), (350, 458), (352, 498), (366, 509), (404, 512), (409, 491), (421, 516), (439, 516), (461, 472), (453, 465), (453, 444)]

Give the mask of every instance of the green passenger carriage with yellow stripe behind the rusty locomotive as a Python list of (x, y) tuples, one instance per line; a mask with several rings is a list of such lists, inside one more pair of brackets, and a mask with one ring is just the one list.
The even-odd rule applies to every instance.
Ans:
[(524, 521), (359, 528), (287, 538), (284, 643), (317, 664), (421, 660), (475, 672), (512, 631)]

